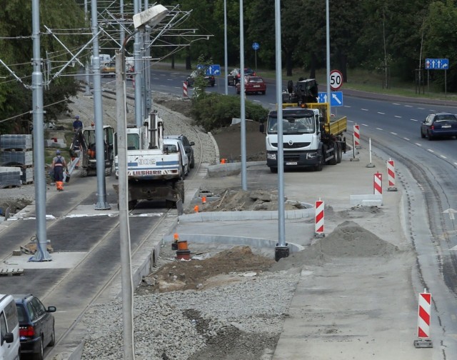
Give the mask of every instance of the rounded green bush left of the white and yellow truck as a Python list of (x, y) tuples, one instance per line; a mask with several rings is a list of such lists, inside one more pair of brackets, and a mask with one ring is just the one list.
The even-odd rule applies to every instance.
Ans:
[[(268, 109), (261, 105), (245, 102), (246, 119), (261, 121), (266, 119)], [(240, 96), (223, 94), (201, 94), (192, 99), (192, 116), (197, 125), (205, 131), (229, 126), (232, 118), (241, 117)]]

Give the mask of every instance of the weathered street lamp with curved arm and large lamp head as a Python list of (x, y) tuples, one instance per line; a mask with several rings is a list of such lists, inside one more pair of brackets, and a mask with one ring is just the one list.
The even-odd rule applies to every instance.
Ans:
[(127, 176), (127, 114), (126, 114), (126, 74), (125, 47), (127, 41), (146, 26), (157, 26), (168, 14), (163, 5), (151, 8), (134, 15), (135, 31), (124, 39), (121, 49), (116, 50), (116, 118), (117, 118), (117, 158), (119, 173), (119, 237), (121, 243), (121, 284), (124, 326), (124, 360), (135, 359), (133, 296), (131, 279), (131, 249), (129, 230), (129, 189)]

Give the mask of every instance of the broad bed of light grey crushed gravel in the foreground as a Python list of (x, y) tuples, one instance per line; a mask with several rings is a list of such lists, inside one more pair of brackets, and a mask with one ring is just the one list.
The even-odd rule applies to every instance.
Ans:
[[(299, 271), (262, 273), (204, 291), (135, 296), (136, 359), (190, 359), (196, 354), (195, 359), (219, 359), (214, 353), (205, 355), (205, 348), (216, 342), (224, 349), (224, 341), (233, 341), (233, 336), (227, 336), (233, 330), (243, 339), (242, 346), (251, 349), (248, 351), (256, 344), (259, 351), (268, 345), (274, 349), (276, 343), (259, 341), (278, 339), (299, 276)], [(121, 301), (92, 306), (83, 322), (88, 334), (82, 359), (122, 359)], [(246, 339), (256, 340), (250, 344)], [(260, 356), (243, 354), (243, 359)]]

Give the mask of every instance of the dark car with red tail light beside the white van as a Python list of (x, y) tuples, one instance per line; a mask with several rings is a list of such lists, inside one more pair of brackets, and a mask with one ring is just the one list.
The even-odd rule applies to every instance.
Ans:
[(21, 355), (31, 354), (35, 360), (43, 360), (44, 348), (54, 346), (55, 306), (46, 309), (41, 301), (32, 294), (13, 295), (19, 319), (21, 336)]

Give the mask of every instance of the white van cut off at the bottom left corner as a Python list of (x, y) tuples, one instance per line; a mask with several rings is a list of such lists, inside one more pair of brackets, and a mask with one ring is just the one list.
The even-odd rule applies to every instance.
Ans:
[(21, 341), (16, 303), (13, 296), (0, 294), (0, 359), (19, 360), (20, 358)]

